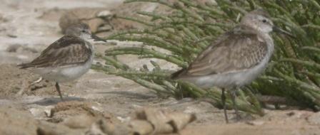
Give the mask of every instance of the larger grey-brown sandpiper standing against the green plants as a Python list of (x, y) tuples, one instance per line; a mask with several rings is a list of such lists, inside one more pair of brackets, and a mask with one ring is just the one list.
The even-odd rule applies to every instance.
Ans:
[(269, 33), (274, 30), (289, 34), (276, 28), (269, 17), (269, 13), (262, 9), (247, 13), (239, 25), (211, 43), (189, 68), (175, 72), (172, 78), (203, 88), (220, 87), (226, 123), (228, 116), (224, 92), (229, 90), (236, 119), (239, 120), (236, 90), (252, 82), (266, 68), (274, 52), (274, 40)]

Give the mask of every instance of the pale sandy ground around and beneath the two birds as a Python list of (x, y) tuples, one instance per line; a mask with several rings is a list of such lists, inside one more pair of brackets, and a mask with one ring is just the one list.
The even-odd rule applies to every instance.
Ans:
[[(47, 131), (53, 129), (57, 134), (84, 134), (92, 129), (91, 124), (97, 119), (121, 124), (143, 107), (196, 114), (196, 121), (179, 134), (320, 134), (319, 113), (266, 110), (264, 117), (250, 116), (251, 119), (238, 123), (231, 119), (231, 124), (225, 124), (222, 111), (207, 102), (159, 98), (131, 80), (94, 70), (79, 80), (62, 84), (66, 101), (61, 102), (52, 82), (29, 87), (39, 75), (16, 68), (16, 64), (29, 62), (62, 36), (58, 25), (61, 13), (78, 7), (106, 8), (116, 13), (159, 8), (156, 4), (139, 4), (115, 9), (121, 4), (117, 0), (0, 2), (0, 134), (49, 134)], [(113, 23), (119, 29), (135, 26), (119, 20)], [(127, 44), (135, 43), (118, 42), (117, 45)], [(94, 45), (101, 53), (108, 48), (103, 43)], [(146, 62), (129, 56), (121, 60), (137, 66)], [(161, 64), (171, 68), (168, 63)], [(234, 117), (232, 111), (228, 113)]]

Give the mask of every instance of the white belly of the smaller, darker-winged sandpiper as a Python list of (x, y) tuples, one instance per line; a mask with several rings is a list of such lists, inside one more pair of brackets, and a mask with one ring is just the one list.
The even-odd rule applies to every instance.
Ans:
[(88, 72), (91, 67), (92, 58), (84, 65), (65, 66), (61, 68), (34, 69), (33, 72), (41, 75), (44, 79), (54, 82), (69, 82)]

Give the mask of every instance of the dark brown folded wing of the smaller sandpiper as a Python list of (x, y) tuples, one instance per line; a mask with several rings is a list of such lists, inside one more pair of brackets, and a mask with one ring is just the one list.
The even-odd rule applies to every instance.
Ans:
[(19, 65), (21, 68), (47, 68), (77, 65), (89, 60), (92, 51), (86, 42), (74, 36), (63, 36), (49, 45), (31, 63)]

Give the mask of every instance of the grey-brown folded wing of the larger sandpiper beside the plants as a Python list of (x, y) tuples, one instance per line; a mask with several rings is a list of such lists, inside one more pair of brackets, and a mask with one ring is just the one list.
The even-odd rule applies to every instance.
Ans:
[(206, 48), (179, 77), (248, 70), (258, 65), (266, 53), (266, 41), (256, 33), (229, 32)]

